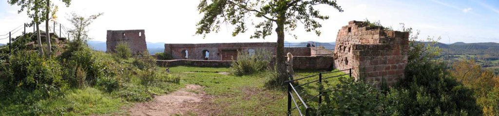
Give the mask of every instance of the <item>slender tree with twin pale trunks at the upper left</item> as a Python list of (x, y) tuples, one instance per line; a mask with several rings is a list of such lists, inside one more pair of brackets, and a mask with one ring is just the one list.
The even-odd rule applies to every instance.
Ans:
[[(19, 5), (21, 8), (17, 10), (18, 13), (21, 13), (26, 9), (26, 13), (29, 18), (33, 18), (33, 21), (30, 23), (30, 25), (36, 26), (36, 33), (37, 36), (36, 38), (37, 43), (38, 43), (38, 51), (40, 55), (43, 55), (43, 48), (41, 44), (41, 37), (40, 37), (40, 27), (39, 24), (43, 21), (46, 23), (46, 33), (48, 33), (48, 14), (50, 12), (50, 3), (49, 0), (7, 0), (7, 2), (10, 5)], [(66, 6), (69, 6), (71, 0), (62, 0), (66, 4)], [(53, 4), (52, 4), (53, 5)], [(49, 36), (47, 36), (47, 39), (49, 39)], [(49, 45), (50, 46), (50, 45)], [(50, 49), (50, 48), (49, 48)]]

